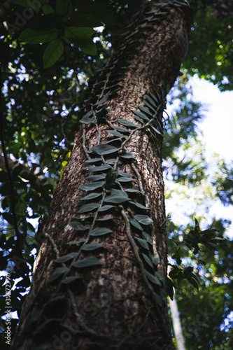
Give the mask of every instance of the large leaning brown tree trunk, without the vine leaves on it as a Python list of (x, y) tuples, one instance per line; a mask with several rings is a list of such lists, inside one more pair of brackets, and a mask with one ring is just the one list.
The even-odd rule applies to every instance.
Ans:
[[(176, 80), (188, 48), (189, 12), (187, 8), (166, 8), (166, 11), (164, 18), (140, 29), (139, 45), (121, 80), (120, 92), (105, 104), (108, 111), (106, 119), (111, 125), (122, 127), (117, 122), (120, 118), (141, 127), (135, 122), (132, 110), (138, 110), (137, 106), (143, 105), (145, 94), (153, 90), (160, 92), (162, 86), (173, 85)], [(113, 62), (116, 57), (113, 57)], [(159, 117), (162, 118), (161, 112)], [(164, 287), (150, 281), (145, 272), (147, 270), (153, 275), (155, 270), (164, 276), (167, 274), (162, 142), (158, 144), (148, 132), (137, 130), (125, 144), (127, 152), (136, 153), (136, 162), (118, 162), (116, 167), (132, 174), (133, 181), (127, 186), (115, 184), (115, 189), (124, 192), (130, 187), (146, 193), (132, 195), (135, 202), (150, 211), (124, 202), (116, 204), (112, 211), (103, 212), (105, 215), (99, 213), (98, 216), (111, 215), (113, 220), (95, 221), (94, 227), (91, 227), (94, 230), (104, 225), (112, 230), (110, 234), (98, 237), (88, 236), (87, 230), (73, 230), (69, 226), (71, 218), (82, 216), (77, 211), (83, 202), (78, 200), (85, 194), (79, 186), (88, 182), (88, 174), (83, 170), (88, 163), (83, 162), (93, 156), (93, 153), (88, 153), (90, 148), (111, 138), (104, 131), (106, 129), (110, 129), (106, 120), (98, 125), (92, 123), (79, 127), (71, 158), (52, 200), (45, 228), (46, 239), (36, 259), (33, 286), (24, 304), (11, 349), (174, 349), (167, 307), (161, 304)], [(112, 157), (106, 155), (102, 162)], [(94, 202), (99, 201), (102, 206), (104, 198), (110, 193), (106, 192), (106, 188), (101, 190), (104, 193), (102, 200)], [(131, 196), (131, 193), (128, 194)], [(152, 225), (142, 224), (143, 230), (150, 233), (153, 240), (150, 253), (145, 244), (141, 246), (139, 242), (139, 239), (148, 236), (141, 235), (140, 230), (129, 225), (129, 218), (132, 220), (136, 214), (153, 218)], [(67, 253), (64, 244), (83, 237), (87, 239), (85, 244), (98, 242), (104, 248), (80, 251), (80, 244), (71, 244), (68, 253), (80, 251), (77, 261), (94, 256), (101, 265), (72, 267), (67, 276), (79, 277), (73, 283), (61, 283), (64, 275), (48, 283), (55, 268), (70, 266), (70, 260), (63, 265), (54, 262)], [(141, 253), (149, 258), (158, 253), (160, 262), (157, 260), (156, 267), (152, 268), (143, 260)]]

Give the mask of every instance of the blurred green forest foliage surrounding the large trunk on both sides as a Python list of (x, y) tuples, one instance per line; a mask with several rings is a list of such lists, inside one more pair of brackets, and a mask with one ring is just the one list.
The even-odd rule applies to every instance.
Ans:
[[(10, 272), (12, 283), (16, 280), (11, 301), (17, 316), (83, 104), (98, 69), (122, 43), (128, 18), (139, 3), (31, 1), (29, 11), (27, 1), (16, 0), (14, 8), (1, 7), (0, 266)], [(190, 76), (197, 74), (223, 91), (232, 90), (232, 20), (218, 21), (213, 14), (211, 8), (195, 13), (181, 77), (168, 97), (169, 104), (178, 99), (179, 105), (169, 118), (164, 116), (164, 176), (184, 194), (185, 186), (202, 185), (213, 201), (218, 197), (232, 205), (231, 165), (218, 160), (216, 174), (206, 175), (209, 165), (198, 134), (204, 112), (188, 87)], [(196, 155), (198, 149), (197, 159), (190, 157), (191, 149)], [(202, 216), (194, 212), (188, 226), (167, 220), (173, 265), (169, 293), (175, 283), (188, 349), (232, 349), (232, 318), (225, 321), (232, 311), (232, 241), (223, 239), (230, 223), (213, 218), (206, 225), (207, 215), (204, 209)], [(4, 276), (0, 283), (3, 310)], [(16, 326), (16, 318), (13, 323)]]

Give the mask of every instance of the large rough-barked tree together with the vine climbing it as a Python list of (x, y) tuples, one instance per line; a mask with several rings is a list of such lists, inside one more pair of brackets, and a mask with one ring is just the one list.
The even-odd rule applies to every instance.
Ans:
[[(12, 349), (174, 349), (162, 111), (188, 50), (190, 15), (186, 1), (143, 2), (92, 83)], [(67, 28), (72, 43), (77, 33)], [(55, 36), (53, 50), (61, 43)]]

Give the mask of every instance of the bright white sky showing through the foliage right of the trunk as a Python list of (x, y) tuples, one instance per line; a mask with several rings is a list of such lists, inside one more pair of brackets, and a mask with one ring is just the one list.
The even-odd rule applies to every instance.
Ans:
[[(206, 158), (210, 161), (213, 159), (213, 153), (218, 153), (220, 158), (230, 163), (233, 161), (233, 92), (220, 92), (216, 85), (199, 79), (197, 76), (190, 78), (190, 83), (195, 102), (202, 102), (205, 109), (205, 118), (199, 123), (199, 129), (203, 133), (206, 144)], [(166, 179), (164, 182), (166, 186)], [(171, 219), (174, 223), (184, 225), (188, 223), (188, 218), (185, 218), (184, 213), (185, 211), (192, 212), (195, 207), (191, 195), (190, 189), (189, 200), (181, 200), (181, 197), (174, 193), (172, 199), (167, 201), (167, 213), (173, 213)], [(211, 217), (233, 221), (233, 206), (224, 207), (220, 200), (210, 202), (209, 222), (211, 222)], [(202, 211), (202, 205), (200, 205), (200, 211)], [(208, 221), (207, 218), (206, 221)], [(227, 230), (227, 236), (233, 239), (233, 223)]]

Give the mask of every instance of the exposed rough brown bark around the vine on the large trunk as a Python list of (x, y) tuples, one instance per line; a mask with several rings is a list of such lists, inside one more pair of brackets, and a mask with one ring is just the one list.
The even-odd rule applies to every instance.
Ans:
[[(132, 59), (118, 97), (108, 103), (108, 120), (117, 124), (117, 119), (127, 119), (135, 123), (132, 109), (143, 105), (145, 94), (160, 90), (162, 85), (173, 85), (188, 48), (188, 11), (169, 9), (169, 14), (141, 33), (139, 48)], [(109, 138), (104, 132), (106, 125), (100, 125), (101, 142)], [(50, 208), (50, 216), (45, 232), (47, 239), (41, 246), (36, 261), (34, 286), (27, 297), (20, 320), (13, 350), (26, 349), (174, 349), (171, 344), (167, 311), (155, 307), (150, 288), (141, 278), (139, 263), (126, 235), (125, 221), (114, 221), (113, 234), (98, 237), (104, 251), (97, 253), (101, 267), (92, 267), (78, 272), (83, 282), (69, 288), (66, 302), (48, 307), (48, 316), (62, 319), (56, 321), (32, 337), (34, 325), (24, 331), (24, 325), (41, 304), (55, 295), (57, 284), (49, 285), (43, 291), (48, 278), (55, 269), (56, 249), (62, 255), (62, 246), (82, 235), (68, 225), (77, 216), (77, 201), (83, 196), (79, 186), (86, 183), (83, 162), (86, 160), (82, 147), (82, 128), (78, 130), (71, 159), (65, 169)], [(87, 127), (87, 148), (97, 144), (97, 131)], [(127, 145), (129, 152), (136, 152), (137, 169), (146, 191), (151, 208), (155, 234), (154, 252), (160, 254), (159, 271), (167, 273), (167, 244), (165, 230), (164, 183), (162, 179), (162, 146), (155, 144), (145, 132), (136, 132)], [(134, 186), (140, 187), (135, 169), (122, 166), (125, 172), (134, 175)], [(55, 242), (55, 243), (54, 243)], [(86, 255), (83, 254), (83, 257)], [(73, 270), (73, 275), (77, 270)], [(62, 291), (62, 290), (61, 290)], [(33, 294), (37, 297), (29, 309)], [(166, 324), (167, 323), (167, 324)], [(45, 346), (45, 342), (52, 347)], [(44, 347), (36, 347), (44, 343)]]

